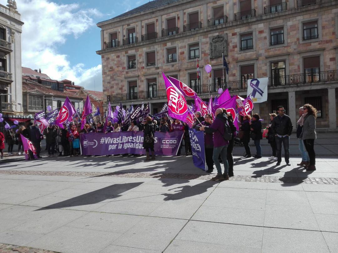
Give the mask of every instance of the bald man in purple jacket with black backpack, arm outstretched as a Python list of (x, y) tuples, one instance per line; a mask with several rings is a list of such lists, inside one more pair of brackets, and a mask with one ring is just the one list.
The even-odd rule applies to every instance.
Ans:
[[(214, 133), (214, 151), (213, 160), (217, 168), (217, 176), (211, 178), (211, 180), (228, 180), (228, 161), (226, 158), (227, 147), (229, 140), (232, 139), (232, 130), (229, 125), (229, 120), (223, 109), (218, 108), (215, 112), (215, 120), (210, 126), (201, 126), (200, 131), (205, 131), (208, 134)], [(222, 174), (221, 164), (218, 160), (219, 154), (224, 165), (224, 173)]]

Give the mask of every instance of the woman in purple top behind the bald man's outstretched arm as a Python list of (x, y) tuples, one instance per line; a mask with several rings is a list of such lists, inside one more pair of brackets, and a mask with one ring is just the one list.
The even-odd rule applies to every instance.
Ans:
[[(207, 114), (205, 117), (205, 121), (201, 122), (201, 125), (204, 126), (211, 126), (212, 124), (212, 116), (211, 114)], [(196, 130), (199, 130), (200, 125), (195, 126)], [(208, 166), (207, 173), (211, 173), (214, 170), (214, 161), (212, 159), (213, 152), (214, 152), (214, 141), (213, 141), (214, 134), (208, 134), (204, 132), (204, 151), (206, 153), (206, 163)]]

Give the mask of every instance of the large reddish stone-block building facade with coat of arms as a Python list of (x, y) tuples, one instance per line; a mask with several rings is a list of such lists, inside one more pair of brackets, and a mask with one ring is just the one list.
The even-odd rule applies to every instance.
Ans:
[(338, 1), (283, 1), (155, 0), (98, 23), (103, 94), (112, 106), (149, 102), (156, 113), (166, 101), (162, 71), (204, 99), (220, 87), (245, 97), (247, 79), (269, 77), (268, 101), (255, 113), (268, 119), (284, 105), (295, 124), (298, 108), (311, 103), (317, 127), (335, 130)]

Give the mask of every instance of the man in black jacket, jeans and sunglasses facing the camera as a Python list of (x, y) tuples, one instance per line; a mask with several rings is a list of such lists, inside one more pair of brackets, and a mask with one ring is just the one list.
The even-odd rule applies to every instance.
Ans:
[(285, 114), (285, 110), (283, 106), (277, 107), (278, 115), (273, 118), (271, 128), (276, 133), (276, 146), (277, 146), (277, 166), (282, 162), (282, 143), (284, 146), (284, 156), (285, 162), (288, 166), (291, 166), (289, 157), (289, 141), (290, 135), (292, 133), (293, 125), (291, 123), (291, 119), (288, 115)]

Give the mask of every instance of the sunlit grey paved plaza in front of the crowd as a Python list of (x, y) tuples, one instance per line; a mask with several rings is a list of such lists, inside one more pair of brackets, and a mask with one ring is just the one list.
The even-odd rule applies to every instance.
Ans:
[(191, 156), (6, 157), (0, 252), (338, 252), (338, 135), (318, 137), (316, 171), (263, 140), (221, 182)]

